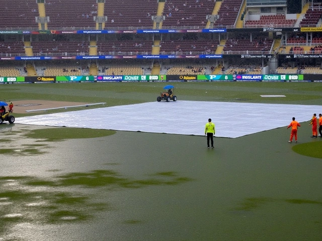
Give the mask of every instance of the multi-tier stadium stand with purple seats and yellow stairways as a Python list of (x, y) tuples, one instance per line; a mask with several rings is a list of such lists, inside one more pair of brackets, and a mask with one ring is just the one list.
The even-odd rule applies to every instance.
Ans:
[[(313, 0), (314, 1), (314, 0)], [(3, 0), (6, 14), (0, 16), (1, 30), (44, 30), (43, 32), (24, 32), (24, 34), (0, 34), (0, 57), (3, 60), (15, 59), (14, 56), (62, 56), (73, 60), (50, 62), (21, 61), (16, 66), (1, 68), (0, 75), (6, 76), (52, 76), (52, 75), (97, 75), (97, 74), (211, 74), (211, 73), (319, 73), (321, 60), (318, 56), (306, 59), (282, 59), (283, 54), (321, 54), (322, 38), (317, 32), (305, 32), (299, 27), (320, 27), (322, 24), (322, 4), (311, 6), (310, 1), (301, 14), (287, 14), (285, 8), (255, 8), (250, 14), (245, 0), (168, 0), (168, 1), (125, 1), (109, 0), (46, 0), (40, 4), (36, 0)], [(265, 1), (260, 1), (265, 4)], [(44, 9), (42, 9), (44, 7)], [(268, 11), (269, 10), (269, 11)], [(164, 17), (158, 27), (152, 17)], [(50, 21), (45, 26), (36, 23), (39, 16), (47, 16)], [(94, 18), (107, 17), (104, 30), (130, 30), (129, 33), (109, 34), (54, 34), (48, 30), (95, 30), (98, 29)], [(208, 16), (208, 17), (207, 17)], [(215, 22), (209, 25), (209, 16)], [(252, 31), (223, 31), (204, 33), (207, 28), (237, 28), (241, 23)], [(45, 29), (43, 29), (45, 28)], [(136, 30), (152, 28), (176, 29), (176, 33), (144, 33)], [(239, 27), (238, 27), (239, 28)], [(270, 33), (259, 28), (290, 28), (289, 31)], [(294, 28), (294, 31), (292, 30)], [(183, 30), (183, 31), (182, 31)], [(185, 32), (190, 30), (191, 32)], [(236, 30), (236, 29), (235, 29)], [(182, 32), (181, 32), (182, 31)], [(263, 33), (266, 32), (266, 33)], [(149, 59), (129, 61), (135, 55), (182, 55), (178, 61), (168, 59)], [(224, 55), (221, 59), (199, 59), (199, 55)], [(250, 59), (229, 57), (236, 54), (277, 54), (274, 64), (268, 58), (252, 62)], [(98, 60), (76, 61), (82, 56), (111, 55), (110, 62)], [(119, 55), (119, 56), (118, 56)], [(128, 60), (117, 61), (128, 55)], [(191, 60), (184, 55), (191, 56)], [(264, 55), (263, 55), (264, 56)], [(185, 57), (185, 58), (181, 58)], [(7, 58), (7, 59), (6, 59)], [(269, 57), (271, 58), (271, 56)], [(180, 61), (179, 61), (180, 59)], [(107, 60), (106, 60), (107, 61)], [(16, 61), (12, 62), (16, 63)], [(291, 63), (290, 67), (288, 63)], [(295, 64), (294, 64), (295, 63)], [(279, 68), (286, 64), (283, 68)], [(18, 67), (17, 67), (18, 66)], [(21, 67), (22, 66), (22, 67)], [(221, 71), (222, 66), (227, 69)], [(265, 68), (268, 67), (269, 68)], [(188, 67), (188, 68), (187, 68)], [(27, 72), (25, 71), (27, 70)], [(71, 71), (74, 70), (75, 71)], [(18, 72), (17, 72), (18, 71)]]

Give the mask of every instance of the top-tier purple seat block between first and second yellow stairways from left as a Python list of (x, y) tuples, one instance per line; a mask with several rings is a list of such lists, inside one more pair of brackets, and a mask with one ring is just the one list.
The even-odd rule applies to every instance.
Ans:
[[(35, 0), (33, 0), (36, 2)], [(95, 28), (96, 0), (46, 1), (46, 16), (50, 18), (48, 29), (76, 27)]]

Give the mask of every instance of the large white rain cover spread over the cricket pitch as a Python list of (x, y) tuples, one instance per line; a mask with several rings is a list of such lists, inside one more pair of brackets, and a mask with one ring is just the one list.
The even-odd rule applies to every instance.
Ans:
[(208, 118), (216, 137), (238, 138), (308, 121), (319, 105), (210, 101), (146, 102), (20, 117), (16, 124), (116, 131), (204, 135)]

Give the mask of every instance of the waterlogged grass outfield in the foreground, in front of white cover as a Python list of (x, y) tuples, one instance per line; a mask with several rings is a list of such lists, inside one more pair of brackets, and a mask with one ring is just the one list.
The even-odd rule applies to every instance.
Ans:
[[(299, 143), (310, 139), (308, 125)], [(0, 240), (319, 240), (320, 159), (289, 130), (237, 139), (117, 132), (56, 142), (2, 125)]]

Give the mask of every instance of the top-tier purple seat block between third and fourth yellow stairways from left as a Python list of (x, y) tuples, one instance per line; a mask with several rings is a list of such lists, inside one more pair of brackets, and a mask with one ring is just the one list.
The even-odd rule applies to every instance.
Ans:
[(206, 16), (211, 15), (214, 2), (209, 0), (167, 1), (163, 27), (201, 26), (207, 24)]

